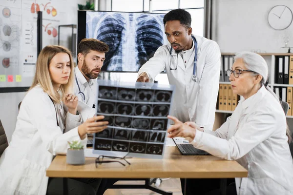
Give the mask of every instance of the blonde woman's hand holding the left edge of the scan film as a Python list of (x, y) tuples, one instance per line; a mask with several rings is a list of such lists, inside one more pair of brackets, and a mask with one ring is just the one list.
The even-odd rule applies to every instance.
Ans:
[(108, 126), (108, 121), (98, 121), (103, 120), (104, 116), (95, 116), (88, 118), (83, 124), (78, 126), (78, 133), (81, 139), (85, 138), (86, 134), (94, 134), (103, 131)]

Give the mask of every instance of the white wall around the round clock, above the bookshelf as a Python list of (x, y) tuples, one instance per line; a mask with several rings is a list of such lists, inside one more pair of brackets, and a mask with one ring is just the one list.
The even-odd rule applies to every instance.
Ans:
[(293, 0), (215, 0), (213, 40), (221, 52), (260, 50), (285, 53), (284, 36), (293, 46), (293, 23), (285, 30), (274, 30), (268, 23), (268, 13), (283, 4), (293, 11)]

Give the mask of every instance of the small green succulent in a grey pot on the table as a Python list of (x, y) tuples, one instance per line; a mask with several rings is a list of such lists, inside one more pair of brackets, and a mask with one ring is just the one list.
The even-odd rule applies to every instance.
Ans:
[(66, 163), (72, 165), (84, 164), (84, 146), (80, 141), (69, 142), (69, 147), (66, 155)]

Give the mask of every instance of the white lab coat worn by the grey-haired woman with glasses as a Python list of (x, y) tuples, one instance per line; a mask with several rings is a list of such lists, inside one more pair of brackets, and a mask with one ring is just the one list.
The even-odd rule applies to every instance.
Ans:
[(219, 129), (197, 131), (191, 143), (248, 169), (248, 177), (235, 178), (238, 195), (292, 195), (293, 160), (287, 141), (284, 111), (263, 86), (240, 100)]

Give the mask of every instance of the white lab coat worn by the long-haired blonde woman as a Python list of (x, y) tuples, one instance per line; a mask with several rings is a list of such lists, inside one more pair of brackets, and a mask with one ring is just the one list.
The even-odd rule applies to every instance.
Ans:
[[(24, 97), (12, 140), (0, 157), (0, 194), (45, 195), (48, 183), (46, 169), (53, 156), (66, 154), (67, 141), (81, 140), (77, 126), (81, 117), (65, 112), (53, 102), (40, 86)], [(63, 124), (65, 132), (63, 134)]]

